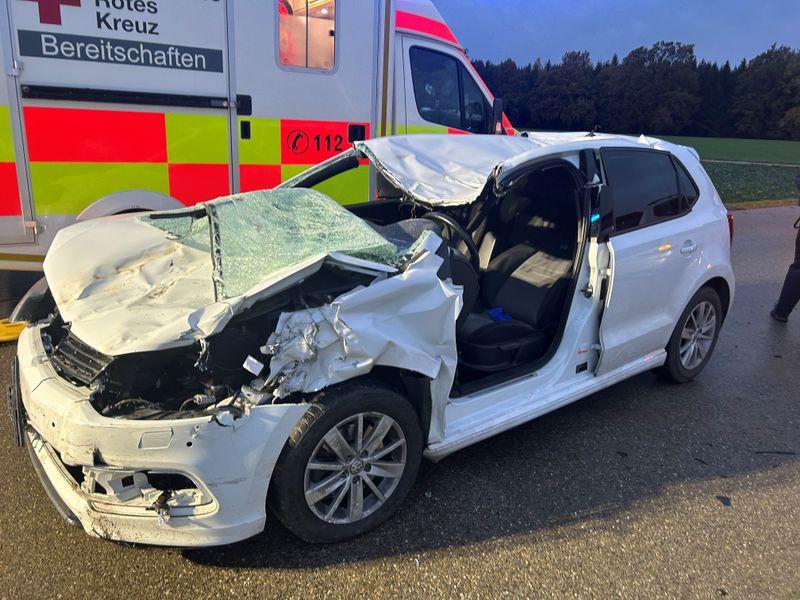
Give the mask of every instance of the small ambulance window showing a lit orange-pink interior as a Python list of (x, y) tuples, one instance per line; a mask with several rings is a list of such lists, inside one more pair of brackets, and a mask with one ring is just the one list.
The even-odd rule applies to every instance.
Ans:
[(334, 66), (336, 0), (277, 0), (280, 63), (330, 71)]

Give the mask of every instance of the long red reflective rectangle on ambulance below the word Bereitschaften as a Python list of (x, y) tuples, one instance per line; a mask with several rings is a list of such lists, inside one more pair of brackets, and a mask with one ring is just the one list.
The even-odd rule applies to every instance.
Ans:
[(31, 161), (166, 162), (164, 113), (26, 106)]

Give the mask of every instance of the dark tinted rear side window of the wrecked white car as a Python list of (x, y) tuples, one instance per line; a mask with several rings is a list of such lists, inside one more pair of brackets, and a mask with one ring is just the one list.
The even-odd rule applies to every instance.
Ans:
[(606, 149), (602, 157), (613, 195), (616, 233), (651, 225), (686, 210), (669, 154)]

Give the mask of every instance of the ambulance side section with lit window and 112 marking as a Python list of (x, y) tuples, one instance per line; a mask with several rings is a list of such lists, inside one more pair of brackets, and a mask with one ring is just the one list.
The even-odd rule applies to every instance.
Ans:
[[(242, 191), (273, 187), (375, 134), (384, 3), (233, 6)], [(365, 164), (320, 190), (349, 204), (371, 197), (370, 186)]]

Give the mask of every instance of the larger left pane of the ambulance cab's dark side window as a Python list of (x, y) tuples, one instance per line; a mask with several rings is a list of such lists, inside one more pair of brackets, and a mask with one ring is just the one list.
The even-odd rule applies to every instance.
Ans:
[(411, 48), (410, 57), (414, 99), (420, 116), (432, 123), (460, 129), (458, 61), (419, 47)]

